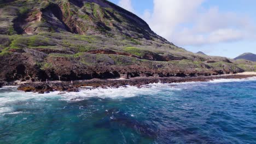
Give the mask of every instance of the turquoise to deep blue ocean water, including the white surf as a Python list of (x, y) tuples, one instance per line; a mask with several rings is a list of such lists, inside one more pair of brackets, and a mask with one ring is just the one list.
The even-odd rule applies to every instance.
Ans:
[(256, 79), (33, 94), (0, 89), (0, 143), (256, 143)]

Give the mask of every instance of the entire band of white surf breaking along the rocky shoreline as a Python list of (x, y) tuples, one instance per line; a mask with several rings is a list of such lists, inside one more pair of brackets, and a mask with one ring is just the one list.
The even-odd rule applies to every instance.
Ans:
[[(17, 87), (3, 87), (2, 89), (8, 90), (0, 91), (0, 107), (6, 107), (18, 103), (20, 101), (45, 101), (52, 99), (79, 101), (91, 97), (100, 98), (130, 98), (138, 95), (155, 95), (160, 92), (170, 94), (172, 91), (181, 91), (182, 89), (192, 88), (195, 86), (207, 86), (205, 83), (220, 83), (220, 82), (237, 82), (237, 81), (256, 81), (256, 77), (248, 79), (217, 79), (209, 82), (182, 82), (182, 83), (152, 83), (149, 85), (141, 86), (127, 86), (119, 88), (96, 88), (96, 89), (80, 89), (80, 92), (51, 92), (47, 94), (38, 93), (25, 93), (17, 91)], [(7, 111), (7, 109), (0, 109), (0, 111)]]

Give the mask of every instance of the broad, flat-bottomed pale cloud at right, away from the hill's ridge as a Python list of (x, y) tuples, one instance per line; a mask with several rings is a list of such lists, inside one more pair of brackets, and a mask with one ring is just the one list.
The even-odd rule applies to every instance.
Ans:
[(179, 28), (167, 37), (181, 45), (204, 45), (250, 39), (254, 32), (248, 17), (220, 13), (218, 8), (211, 8), (198, 13), (191, 27)]

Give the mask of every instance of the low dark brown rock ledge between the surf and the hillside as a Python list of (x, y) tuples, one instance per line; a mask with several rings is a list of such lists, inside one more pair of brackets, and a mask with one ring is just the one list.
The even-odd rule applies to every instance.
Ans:
[(211, 81), (214, 79), (245, 79), (256, 75), (219, 75), (219, 76), (194, 76), (194, 77), (134, 77), (131, 79), (92, 79), (73, 82), (30, 82), (19, 85), (18, 90), (24, 92), (49, 93), (53, 91), (61, 92), (79, 92), (80, 89), (92, 88), (118, 88), (121, 86), (137, 86), (147, 85), (149, 83), (178, 83), (191, 81)]

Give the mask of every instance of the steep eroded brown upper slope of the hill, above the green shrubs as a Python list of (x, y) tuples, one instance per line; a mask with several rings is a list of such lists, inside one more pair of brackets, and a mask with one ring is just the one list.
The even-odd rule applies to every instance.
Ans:
[(6, 22), (0, 26), (1, 34), (64, 31), (82, 35), (107, 34), (158, 39), (168, 43), (156, 35), (138, 16), (104, 0), (20, 0), (2, 2), (1, 7), (4, 14), (1, 18)]

